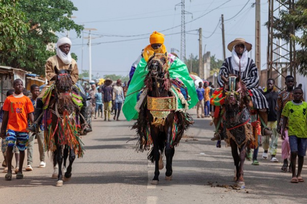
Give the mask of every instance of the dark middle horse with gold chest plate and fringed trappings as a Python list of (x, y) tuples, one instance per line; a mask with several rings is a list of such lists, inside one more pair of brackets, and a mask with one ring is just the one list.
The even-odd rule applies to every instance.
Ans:
[(166, 157), (165, 179), (172, 179), (174, 147), (179, 144), (184, 130), (193, 123), (184, 111), (177, 109), (178, 101), (184, 104), (185, 99), (180, 92), (180, 82), (170, 79), (168, 68), (167, 57), (163, 54), (155, 54), (149, 59), (145, 88), (136, 106), (139, 117), (133, 126), (139, 136), (137, 151), (151, 149), (148, 160), (155, 162), (155, 176), (151, 184), (159, 184), (159, 169), (164, 167), (163, 150)]

